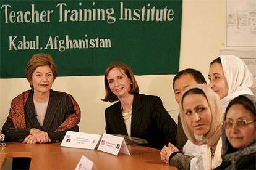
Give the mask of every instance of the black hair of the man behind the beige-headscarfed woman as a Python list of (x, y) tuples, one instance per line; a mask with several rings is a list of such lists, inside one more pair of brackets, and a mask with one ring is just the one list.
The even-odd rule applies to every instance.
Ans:
[(194, 68), (187, 68), (187, 69), (179, 71), (179, 73), (177, 73), (177, 75), (174, 76), (173, 87), (174, 87), (174, 83), (177, 79), (179, 79), (182, 75), (187, 75), (187, 74), (190, 74), (191, 76), (193, 76), (193, 78), (195, 79), (195, 81), (198, 84), (203, 84), (203, 83), (206, 84), (206, 80), (200, 71), (195, 70)]

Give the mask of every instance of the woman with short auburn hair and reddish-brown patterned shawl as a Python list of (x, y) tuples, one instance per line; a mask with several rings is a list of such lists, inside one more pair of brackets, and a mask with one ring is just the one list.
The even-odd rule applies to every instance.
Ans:
[(2, 127), (6, 140), (43, 144), (61, 141), (67, 130), (79, 131), (79, 105), (71, 95), (51, 89), (57, 76), (51, 55), (33, 55), (25, 75), (32, 89), (12, 100)]

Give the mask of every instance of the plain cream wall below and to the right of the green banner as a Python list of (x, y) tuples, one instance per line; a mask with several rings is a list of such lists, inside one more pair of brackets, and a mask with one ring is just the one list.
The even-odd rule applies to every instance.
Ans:
[[(209, 63), (219, 49), (226, 47), (226, 1), (183, 1), (182, 8), (179, 69), (196, 68), (207, 78)], [(169, 111), (178, 108), (171, 89), (173, 76), (147, 75), (136, 76), (136, 79), (141, 93), (158, 95)], [(25, 78), (0, 79), (0, 127), (6, 120), (11, 100), (29, 88)], [(100, 100), (105, 95), (103, 76), (58, 77), (53, 89), (72, 94), (79, 103), (82, 110), (80, 132), (105, 132), (104, 110), (111, 103)]]

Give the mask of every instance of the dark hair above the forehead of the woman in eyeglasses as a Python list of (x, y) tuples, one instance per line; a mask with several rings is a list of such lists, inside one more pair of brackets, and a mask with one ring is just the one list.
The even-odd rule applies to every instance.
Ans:
[(238, 97), (236, 97), (233, 100), (231, 100), (231, 102), (229, 102), (228, 107), (226, 108), (226, 111), (225, 111), (225, 119), (226, 119), (226, 115), (228, 113), (229, 108), (232, 105), (236, 105), (236, 104), (240, 104), (246, 110), (251, 111), (252, 114), (254, 114), (254, 115), (256, 114), (256, 108), (254, 106), (254, 103), (252, 103), (252, 101), (250, 99), (248, 99), (248, 97), (245, 97), (244, 95), (239, 95)]

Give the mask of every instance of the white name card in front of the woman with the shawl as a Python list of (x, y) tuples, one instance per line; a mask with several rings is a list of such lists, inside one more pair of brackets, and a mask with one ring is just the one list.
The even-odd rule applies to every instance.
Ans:
[(61, 147), (84, 148), (94, 150), (101, 135), (67, 131)]

